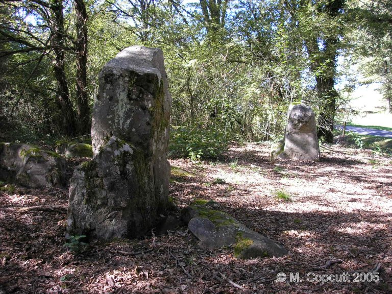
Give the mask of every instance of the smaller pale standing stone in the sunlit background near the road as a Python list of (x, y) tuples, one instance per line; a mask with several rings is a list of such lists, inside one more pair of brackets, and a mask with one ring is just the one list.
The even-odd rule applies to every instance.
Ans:
[(314, 112), (309, 106), (290, 105), (283, 152), (278, 158), (309, 161), (320, 159)]

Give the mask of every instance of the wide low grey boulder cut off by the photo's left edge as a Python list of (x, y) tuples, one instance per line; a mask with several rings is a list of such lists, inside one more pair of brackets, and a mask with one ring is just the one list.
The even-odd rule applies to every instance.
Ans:
[(59, 154), (38, 146), (0, 144), (0, 179), (29, 188), (58, 187), (65, 184), (65, 161)]

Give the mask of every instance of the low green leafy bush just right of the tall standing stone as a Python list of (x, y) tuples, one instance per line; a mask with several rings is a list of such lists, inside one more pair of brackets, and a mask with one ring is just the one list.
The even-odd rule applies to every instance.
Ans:
[(200, 127), (172, 127), (169, 155), (192, 161), (216, 159), (228, 149), (228, 136), (221, 130)]

